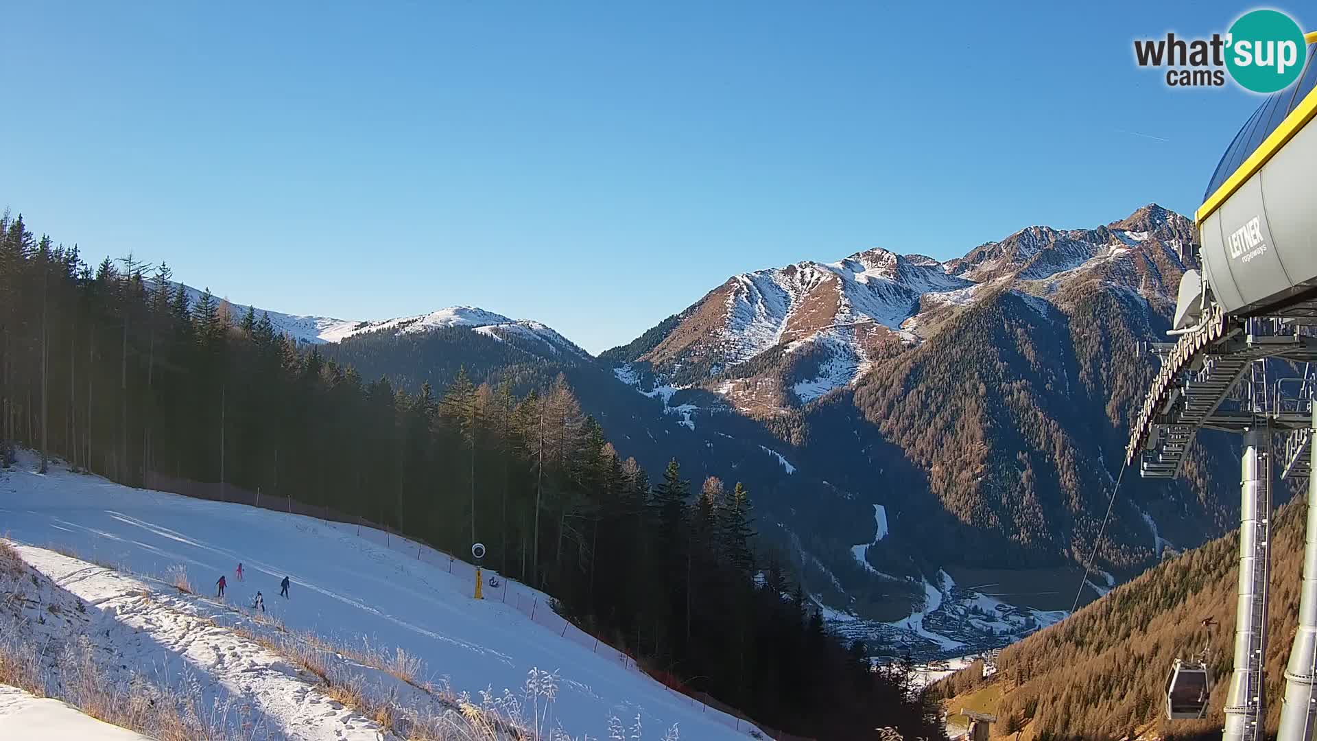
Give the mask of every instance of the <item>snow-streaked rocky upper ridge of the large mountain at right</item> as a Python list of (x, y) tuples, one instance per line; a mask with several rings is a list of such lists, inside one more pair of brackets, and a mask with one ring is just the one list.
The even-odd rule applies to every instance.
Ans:
[[(851, 384), (890, 343), (922, 343), (950, 312), (988, 295), (988, 289), (1005, 287), (1044, 315), (1046, 295), (1056, 281), (1085, 280), (1085, 272), (1094, 269), (1108, 282), (1144, 297), (1173, 295), (1175, 286), (1147, 269), (1147, 256), (1142, 264), (1135, 257), (1147, 249), (1173, 253), (1191, 241), (1188, 219), (1150, 204), (1092, 229), (1026, 227), (948, 261), (872, 248), (836, 262), (741, 273), (684, 311), (657, 343), (626, 360), (648, 363), (662, 382), (716, 381), (711, 389), (743, 410), (781, 409)], [(1183, 264), (1179, 256), (1173, 260)], [(786, 359), (802, 349), (817, 363), (786, 373), (781, 398), (765, 398), (759, 382), (726, 381), (730, 369), (768, 359), (770, 351)]]

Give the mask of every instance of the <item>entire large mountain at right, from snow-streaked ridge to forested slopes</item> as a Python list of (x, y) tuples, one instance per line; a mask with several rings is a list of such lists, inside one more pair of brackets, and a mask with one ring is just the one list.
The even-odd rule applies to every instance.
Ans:
[[(802, 471), (882, 505), (930, 579), (1062, 568), (1094, 546), (1096, 566), (1125, 579), (1167, 543), (1225, 533), (1237, 512), (1234, 454), (1205, 434), (1180, 480), (1126, 477), (1096, 543), (1156, 370), (1141, 343), (1164, 340), (1195, 266), (1192, 222), (1148, 204), (1093, 228), (1026, 227), (946, 262), (869, 249), (743, 273), (601, 357), (761, 421)], [(848, 595), (864, 591), (844, 566), (855, 534), (823, 535), (807, 550)], [(884, 571), (900, 562), (871, 555)]]

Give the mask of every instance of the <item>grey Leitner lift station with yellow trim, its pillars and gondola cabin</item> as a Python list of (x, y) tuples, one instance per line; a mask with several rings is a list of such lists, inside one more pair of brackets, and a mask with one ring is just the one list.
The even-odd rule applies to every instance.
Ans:
[[(1299, 629), (1285, 670), (1279, 741), (1309, 741), (1317, 721), (1317, 33), (1299, 82), (1268, 96), (1226, 149), (1196, 215), (1202, 272), (1184, 274), (1173, 341), (1131, 422), (1125, 464), (1173, 477), (1198, 430), (1241, 435), (1239, 593), (1225, 741), (1264, 734), (1271, 480), (1308, 481)], [(1268, 361), (1271, 363), (1268, 376)], [(1281, 372), (1281, 368), (1284, 370)], [(1289, 372), (1289, 369), (1297, 372)], [(1284, 377), (1279, 377), (1284, 376)], [(1289, 575), (1285, 575), (1289, 578)], [(1169, 719), (1205, 717), (1205, 653), (1169, 667)]]

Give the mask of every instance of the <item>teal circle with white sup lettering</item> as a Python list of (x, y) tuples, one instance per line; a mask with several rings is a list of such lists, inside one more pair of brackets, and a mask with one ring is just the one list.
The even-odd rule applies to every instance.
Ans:
[(1304, 70), (1304, 32), (1279, 11), (1250, 11), (1230, 26), (1226, 69), (1245, 90), (1276, 92)]

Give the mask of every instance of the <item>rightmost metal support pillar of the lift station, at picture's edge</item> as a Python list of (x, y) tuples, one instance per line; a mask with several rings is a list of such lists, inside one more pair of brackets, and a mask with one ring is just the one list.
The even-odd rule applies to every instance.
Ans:
[[(1313, 410), (1317, 429), (1317, 409)], [(1280, 708), (1277, 741), (1312, 741), (1317, 725), (1317, 476), (1308, 477), (1308, 533), (1304, 538), (1304, 580), (1299, 589), (1299, 630), (1285, 667), (1285, 701)]]

